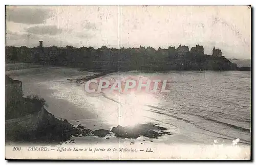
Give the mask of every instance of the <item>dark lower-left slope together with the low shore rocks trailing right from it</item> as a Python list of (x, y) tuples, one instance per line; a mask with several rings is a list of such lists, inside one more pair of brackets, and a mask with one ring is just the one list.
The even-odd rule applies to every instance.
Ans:
[(139, 124), (136, 127), (113, 127), (112, 130), (99, 129), (92, 131), (82, 125), (75, 128), (67, 120), (58, 120), (45, 108), (38, 112), (28, 114), (5, 122), (6, 141), (35, 142), (35, 143), (60, 143), (70, 140), (72, 136), (98, 136), (114, 134), (122, 138), (138, 138), (140, 136), (158, 138), (166, 132), (166, 128), (154, 124)]

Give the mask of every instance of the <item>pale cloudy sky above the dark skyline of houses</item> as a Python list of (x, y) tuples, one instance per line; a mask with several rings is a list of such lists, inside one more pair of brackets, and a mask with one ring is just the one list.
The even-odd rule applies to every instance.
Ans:
[(200, 44), (251, 58), (248, 6), (7, 6), (6, 45), (139, 48)]

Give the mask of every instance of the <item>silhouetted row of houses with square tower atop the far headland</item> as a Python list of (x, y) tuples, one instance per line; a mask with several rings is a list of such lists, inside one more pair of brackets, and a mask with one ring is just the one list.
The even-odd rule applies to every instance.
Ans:
[[(92, 63), (99, 63), (99, 61), (108, 61), (108, 63), (129, 63), (129, 62), (167, 62), (169, 60), (182, 60), (184, 57), (191, 58), (194, 56), (206, 56), (202, 45), (197, 44), (189, 51), (188, 46), (179, 45), (176, 49), (175, 46), (169, 46), (168, 49), (155, 50), (152, 47), (145, 48), (107, 48), (102, 46), (99, 49), (93, 47), (74, 48), (67, 45), (64, 48), (57, 46), (44, 47), (43, 42), (39, 41), (36, 48), (28, 48), (21, 46), (16, 48), (14, 46), (6, 46), (6, 60), (22, 61), (22, 62), (42, 62), (47, 64), (67, 64), (78, 63), (83, 65), (87, 61), (87, 65)], [(212, 50), (212, 57), (223, 57), (221, 50)]]

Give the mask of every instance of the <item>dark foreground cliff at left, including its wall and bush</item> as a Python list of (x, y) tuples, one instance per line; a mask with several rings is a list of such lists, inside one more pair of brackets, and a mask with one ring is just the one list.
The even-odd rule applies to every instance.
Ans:
[(23, 98), (22, 82), (6, 76), (6, 141), (63, 142), (79, 134), (67, 121), (49, 113), (40, 98)]

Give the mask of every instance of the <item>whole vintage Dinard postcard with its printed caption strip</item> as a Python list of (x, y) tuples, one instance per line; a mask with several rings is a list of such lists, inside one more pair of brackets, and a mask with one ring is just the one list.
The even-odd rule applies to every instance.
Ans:
[(6, 6), (5, 38), (6, 159), (251, 159), (251, 6)]

